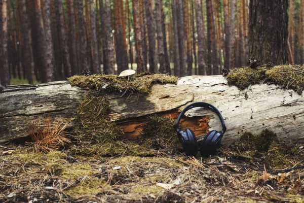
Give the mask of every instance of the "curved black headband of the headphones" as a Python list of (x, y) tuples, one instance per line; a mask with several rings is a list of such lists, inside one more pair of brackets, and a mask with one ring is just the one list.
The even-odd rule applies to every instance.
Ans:
[(222, 117), (222, 115), (220, 114), (220, 112), (218, 111), (218, 109), (216, 109), (213, 105), (209, 104), (209, 103), (206, 103), (206, 102), (203, 102), (203, 101), (199, 101), (199, 102), (196, 102), (196, 103), (192, 103), (191, 105), (188, 105), (186, 106), (182, 112), (179, 114), (177, 120), (176, 120), (176, 124), (174, 126), (175, 130), (178, 131), (178, 124), (179, 124), (179, 121), (181, 119), (181, 117), (184, 115), (184, 113), (192, 108), (196, 108), (196, 107), (204, 107), (204, 108), (208, 108), (210, 110), (212, 110), (213, 112), (215, 112), (217, 114), (217, 116), (219, 117), (220, 119), (220, 122), (222, 124), (222, 130), (221, 130), (221, 133), (224, 133), (226, 131), (226, 126), (225, 126), (225, 122), (224, 122), (224, 119)]

